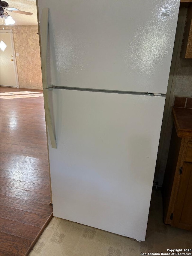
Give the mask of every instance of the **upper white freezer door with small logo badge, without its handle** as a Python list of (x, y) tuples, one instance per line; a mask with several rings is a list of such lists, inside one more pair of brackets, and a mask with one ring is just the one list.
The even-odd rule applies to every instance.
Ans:
[[(49, 8), (49, 83), (166, 93), (180, 0), (38, 0)], [(170, 14), (164, 11), (170, 8)]]

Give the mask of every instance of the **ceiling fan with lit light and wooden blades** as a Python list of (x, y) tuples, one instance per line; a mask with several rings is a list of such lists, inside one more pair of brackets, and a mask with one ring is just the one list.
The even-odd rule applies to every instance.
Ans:
[(15, 23), (13, 18), (7, 13), (13, 12), (13, 13), (19, 13), (19, 14), (26, 14), (26, 15), (32, 15), (32, 12), (25, 12), (25, 11), (20, 11), (17, 8), (14, 7), (9, 7), (9, 4), (5, 1), (0, 0), (0, 17), (2, 20), (4, 20), (5, 25), (12, 25)]

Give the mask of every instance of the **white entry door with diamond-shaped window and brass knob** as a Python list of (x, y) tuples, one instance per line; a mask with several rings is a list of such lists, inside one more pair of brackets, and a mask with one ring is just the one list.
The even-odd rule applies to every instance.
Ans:
[(12, 30), (0, 30), (0, 86), (19, 87)]

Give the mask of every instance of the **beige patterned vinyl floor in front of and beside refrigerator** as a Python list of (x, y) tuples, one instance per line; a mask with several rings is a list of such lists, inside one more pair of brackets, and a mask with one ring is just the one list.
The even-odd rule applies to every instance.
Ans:
[(192, 248), (192, 232), (163, 223), (161, 191), (153, 191), (145, 242), (53, 217), (29, 255), (161, 255), (169, 253), (167, 249), (184, 248)]

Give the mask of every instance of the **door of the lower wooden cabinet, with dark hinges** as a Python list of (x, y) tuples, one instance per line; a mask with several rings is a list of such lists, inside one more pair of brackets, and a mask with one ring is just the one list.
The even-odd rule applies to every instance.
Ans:
[(172, 226), (192, 230), (192, 164), (184, 163)]

